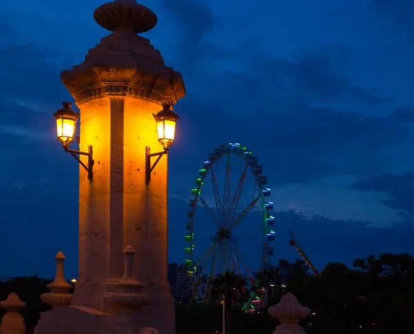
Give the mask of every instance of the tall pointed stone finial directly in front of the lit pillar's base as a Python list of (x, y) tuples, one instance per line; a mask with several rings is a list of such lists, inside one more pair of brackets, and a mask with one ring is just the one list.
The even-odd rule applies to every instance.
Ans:
[(135, 278), (134, 274), (134, 255), (135, 250), (127, 246), (124, 250), (125, 268), (124, 276), (117, 282), (117, 293), (110, 293), (108, 300), (123, 309), (139, 309), (150, 302), (150, 296), (146, 293), (140, 293), (144, 284)]

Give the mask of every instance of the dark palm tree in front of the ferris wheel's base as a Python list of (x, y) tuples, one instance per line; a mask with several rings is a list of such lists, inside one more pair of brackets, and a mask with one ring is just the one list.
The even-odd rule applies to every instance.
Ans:
[(217, 274), (211, 282), (213, 285), (210, 293), (211, 298), (217, 304), (224, 299), (228, 334), (231, 334), (231, 311), (233, 306), (241, 306), (245, 283), (242, 275), (235, 273), (234, 270)]

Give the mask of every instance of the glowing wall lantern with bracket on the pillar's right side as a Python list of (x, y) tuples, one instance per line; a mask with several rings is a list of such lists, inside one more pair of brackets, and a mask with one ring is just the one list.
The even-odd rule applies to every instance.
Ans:
[[(171, 103), (162, 103), (162, 110), (157, 114), (152, 114), (157, 124), (157, 136), (158, 141), (163, 145), (164, 151), (152, 153), (150, 147), (146, 147), (146, 185), (150, 184), (151, 172), (159, 162), (164, 154), (168, 153), (168, 148), (174, 143), (175, 138), (175, 125), (179, 116), (171, 110)], [(157, 156), (157, 160), (151, 166), (151, 157)]]

